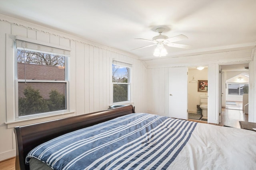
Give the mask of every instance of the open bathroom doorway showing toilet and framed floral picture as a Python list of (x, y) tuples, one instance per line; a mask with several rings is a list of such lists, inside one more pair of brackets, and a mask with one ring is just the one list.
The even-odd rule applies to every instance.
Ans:
[[(204, 100), (204, 105), (200, 100)], [(188, 67), (188, 119), (196, 121), (208, 121), (208, 66)]]

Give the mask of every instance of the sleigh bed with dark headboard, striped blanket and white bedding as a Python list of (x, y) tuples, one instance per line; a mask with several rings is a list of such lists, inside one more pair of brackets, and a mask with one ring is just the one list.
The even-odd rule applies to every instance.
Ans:
[(16, 169), (255, 169), (256, 133), (132, 105), (15, 127)]

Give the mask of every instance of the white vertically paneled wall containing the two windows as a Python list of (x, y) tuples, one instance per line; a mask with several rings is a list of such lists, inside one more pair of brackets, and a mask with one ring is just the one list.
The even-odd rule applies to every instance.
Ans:
[[(15, 138), (13, 129), (10, 128), (14, 125), (5, 124), (7, 115), (10, 117), (8, 121), (14, 121), (14, 100), (6, 97), (7, 94), (14, 91), (14, 70), (12, 69), (14, 54), (10, 50), (12, 49), (13, 41), (9, 38), (9, 35), (19, 35), (32, 40), (71, 48), (69, 57), (69, 107), (73, 113), (66, 116), (100, 111), (108, 109), (112, 105), (112, 59), (132, 63), (131, 104), (136, 107), (137, 112), (146, 112), (147, 70), (144, 63), (136, 59), (135, 56), (105, 46), (88, 43), (86, 40), (52, 29), (14, 18), (5, 18), (2, 15), (0, 15), (0, 28), (0, 59), (2, 61), (0, 62), (0, 78), (1, 80), (8, 79), (8, 81), (0, 81), (0, 160), (15, 156)], [(13, 99), (14, 96), (11, 95), (10, 98)], [(12, 111), (7, 112), (7, 108), (12, 108)], [(20, 122), (18, 125), (62, 117), (65, 117), (65, 115)]]

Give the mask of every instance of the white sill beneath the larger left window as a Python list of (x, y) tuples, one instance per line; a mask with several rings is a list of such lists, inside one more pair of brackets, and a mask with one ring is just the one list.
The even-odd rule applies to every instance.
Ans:
[(62, 119), (65, 117), (70, 117), (75, 115), (75, 111), (70, 111), (66, 113), (59, 113), (55, 115), (47, 115), (47, 116), (41, 116), (41, 117), (33, 117), (29, 119), (23, 119), (23, 120), (17, 120), (17, 121), (10, 121), (10, 122), (5, 122), (7, 125), (7, 128), (13, 128), (16, 126), (24, 126), (24, 125), (30, 125), (34, 123), (41, 123), (44, 121), (52, 121), (54, 119)]

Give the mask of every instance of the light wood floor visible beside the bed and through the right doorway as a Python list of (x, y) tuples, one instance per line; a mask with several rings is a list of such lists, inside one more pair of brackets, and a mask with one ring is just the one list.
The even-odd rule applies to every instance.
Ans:
[[(237, 104), (237, 106), (233, 105), (222, 108), (221, 122), (220, 124), (218, 124), (218, 126), (226, 125), (230, 127), (240, 128), (239, 121), (248, 121), (248, 114), (244, 114), (242, 110), (238, 109), (238, 107), (240, 107), (239, 104)], [(200, 123), (207, 123), (207, 121), (197, 121), (193, 119), (189, 120)], [(0, 162), (0, 170), (15, 170), (15, 158)]]

